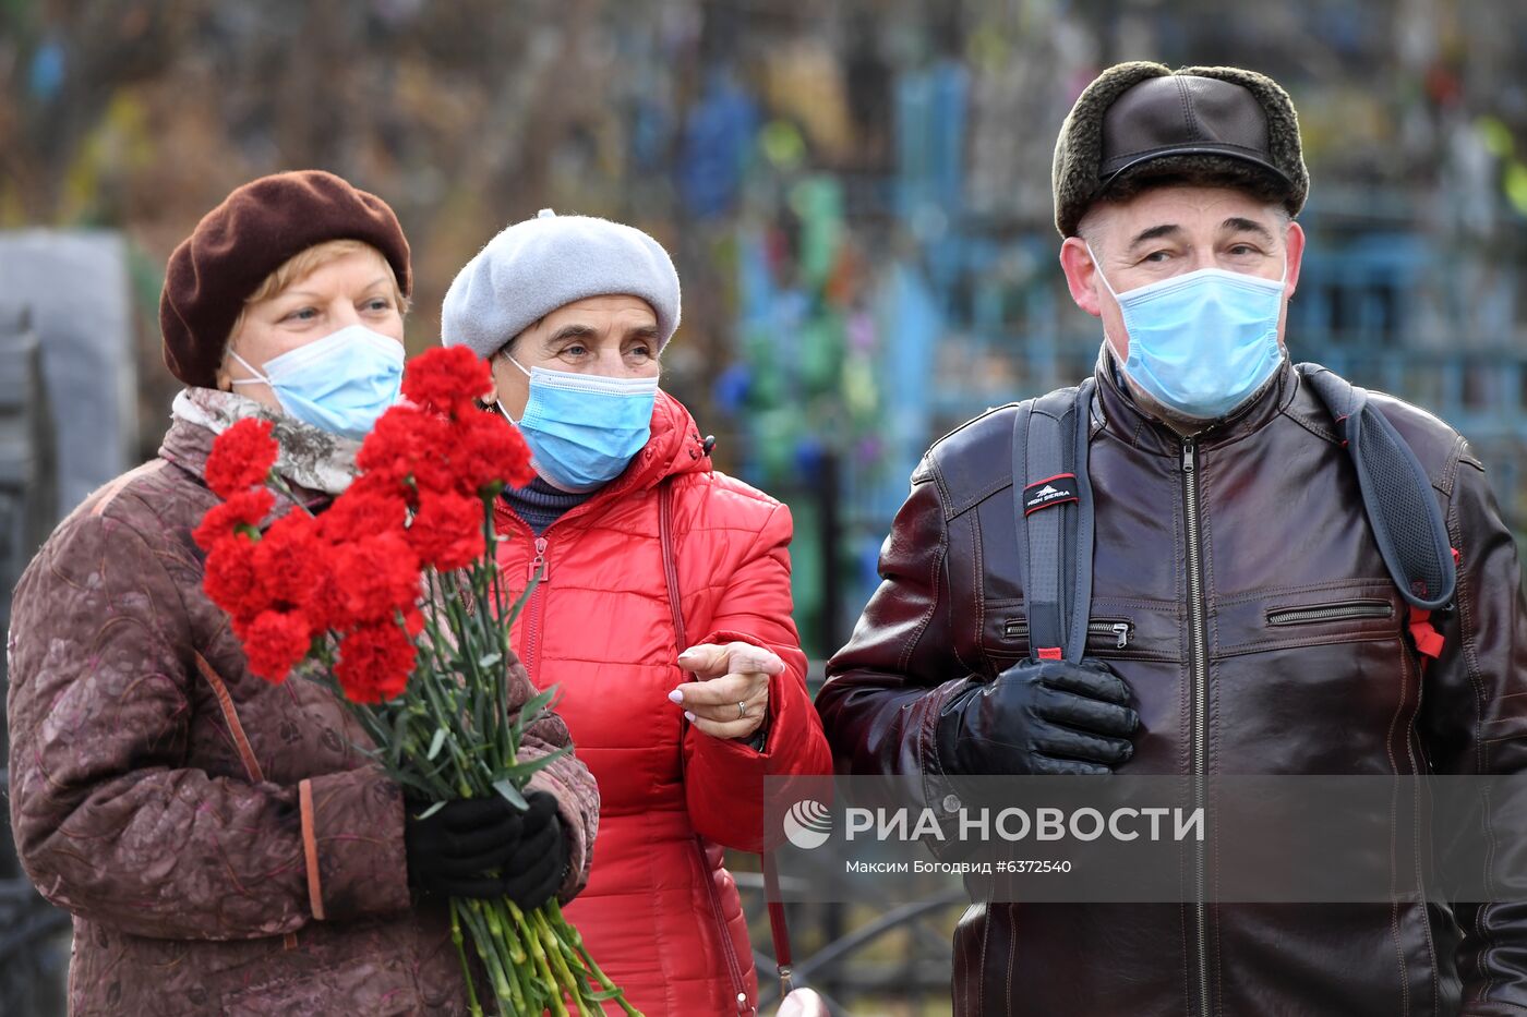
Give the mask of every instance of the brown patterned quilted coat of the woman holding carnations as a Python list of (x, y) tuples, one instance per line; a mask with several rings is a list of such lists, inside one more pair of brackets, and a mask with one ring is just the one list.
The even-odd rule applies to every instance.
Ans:
[[(411, 902), (399, 788), (330, 693), (250, 675), (202, 592), (211, 443), (177, 420), (15, 592), (11, 818), (32, 881), (75, 916), (70, 1011), (466, 1012), (444, 910)], [(527, 756), (567, 739), (545, 719)], [(533, 783), (573, 831), (567, 901), (588, 878), (594, 782), (563, 757)]]

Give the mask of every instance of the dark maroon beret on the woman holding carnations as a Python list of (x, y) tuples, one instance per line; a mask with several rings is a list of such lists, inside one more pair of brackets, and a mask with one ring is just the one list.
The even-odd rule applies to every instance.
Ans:
[(250, 180), (208, 212), (169, 255), (159, 296), (165, 365), (212, 388), (244, 301), (289, 258), (330, 240), (363, 240), (388, 260), (408, 296), (408, 240), (386, 202), (331, 173), (302, 170)]

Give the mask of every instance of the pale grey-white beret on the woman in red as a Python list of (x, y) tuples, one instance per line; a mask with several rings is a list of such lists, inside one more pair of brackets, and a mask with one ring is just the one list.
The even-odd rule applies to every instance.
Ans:
[(680, 318), (678, 272), (663, 244), (634, 226), (544, 208), (487, 241), (457, 273), (440, 334), (447, 347), (487, 357), (563, 304), (626, 293), (657, 312), (661, 351)]

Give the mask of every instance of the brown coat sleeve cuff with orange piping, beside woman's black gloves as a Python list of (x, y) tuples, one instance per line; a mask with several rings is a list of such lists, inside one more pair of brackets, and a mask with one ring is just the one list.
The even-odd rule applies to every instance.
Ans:
[(403, 794), (376, 770), (324, 774), (298, 785), (308, 910), (321, 921), (409, 907)]

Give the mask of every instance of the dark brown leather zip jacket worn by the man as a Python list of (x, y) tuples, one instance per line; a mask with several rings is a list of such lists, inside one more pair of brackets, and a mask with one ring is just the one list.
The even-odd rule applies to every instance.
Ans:
[[(1461, 437), (1399, 400), (1373, 405), (1426, 467), (1461, 551), (1457, 611), (1425, 676), (1356, 472), (1290, 366), (1194, 441), (1098, 371), (1092, 618), (1127, 625), (1128, 638), (1099, 634), (1089, 655), (1124, 678), (1141, 715), (1121, 773), (1527, 767), (1512, 533)], [(941, 802), (939, 707), (968, 676), (989, 680), (1026, 654), (1006, 626), (1023, 618), (1011, 431), (1012, 409), (993, 411), (913, 473), (881, 551), (884, 582), (817, 699), (840, 773), (921, 774), (927, 802)], [(1347, 600), (1393, 611), (1269, 623), (1274, 609)], [(954, 933), (953, 993), (967, 1017), (1521, 1014), (1527, 906), (976, 904)]]

